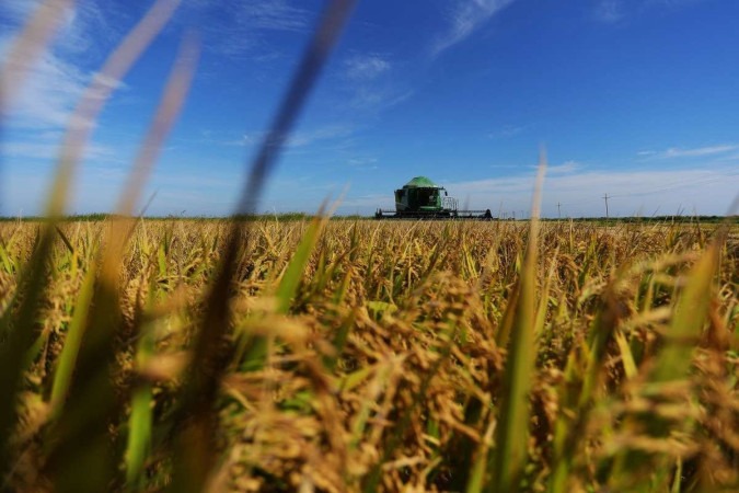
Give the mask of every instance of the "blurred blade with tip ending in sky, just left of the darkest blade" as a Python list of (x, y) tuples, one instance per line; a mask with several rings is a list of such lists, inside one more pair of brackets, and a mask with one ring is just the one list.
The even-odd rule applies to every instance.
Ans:
[[(132, 174), (143, 174), (153, 163), (171, 128), (170, 118), (175, 116), (184, 99), (189, 80), (186, 73), (192, 73), (192, 70), (186, 70), (185, 77), (182, 70), (173, 71), (160, 110), (145, 140), (145, 150), (140, 153), (142, 158), (138, 162), (139, 165), (131, 171)], [(183, 84), (175, 79), (184, 79), (185, 90), (182, 90)], [(143, 177), (138, 180), (138, 185), (142, 184)], [(124, 190), (125, 193), (131, 191)], [(132, 199), (128, 205), (122, 199), (120, 204), (130, 207)], [(112, 479), (116, 478), (116, 459), (108, 426), (117, 421), (116, 414), (120, 408), (117, 405), (109, 376), (115, 369), (114, 337), (123, 322), (119, 267), (130, 222), (125, 218), (113, 219), (107, 228), (106, 239), (103, 242), (104, 250), (100, 257), (100, 276), (91, 301), (92, 309), (77, 358), (78, 378), (72, 380), (69, 389), (70, 399), (51, 428), (57, 436), (50, 452), (49, 469), (57, 490), (61, 492), (101, 491), (108, 488)], [(82, 481), (85, 470), (95, 470), (95, 474)]]

